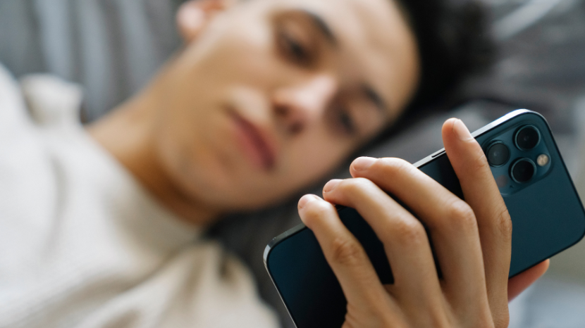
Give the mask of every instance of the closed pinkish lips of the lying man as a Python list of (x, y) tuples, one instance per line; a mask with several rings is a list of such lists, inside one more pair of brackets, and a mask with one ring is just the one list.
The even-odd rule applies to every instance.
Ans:
[(275, 146), (267, 132), (252, 122), (242, 118), (235, 111), (230, 111), (235, 121), (236, 135), (242, 150), (253, 164), (263, 170), (271, 170), (276, 163)]

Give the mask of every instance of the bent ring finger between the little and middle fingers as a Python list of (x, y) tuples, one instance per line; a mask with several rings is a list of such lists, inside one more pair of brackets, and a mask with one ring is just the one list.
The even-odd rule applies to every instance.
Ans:
[(436, 306), (441, 286), (421, 222), (368, 179), (331, 180), (323, 192), (326, 201), (355, 208), (374, 229), (392, 267), (395, 296)]

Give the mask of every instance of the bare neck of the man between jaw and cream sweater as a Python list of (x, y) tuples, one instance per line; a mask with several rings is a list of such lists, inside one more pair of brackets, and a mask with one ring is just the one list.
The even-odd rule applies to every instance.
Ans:
[(182, 220), (207, 226), (221, 213), (185, 194), (161, 163), (153, 129), (157, 89), (151, 84), (87, 130), (163, 206)]

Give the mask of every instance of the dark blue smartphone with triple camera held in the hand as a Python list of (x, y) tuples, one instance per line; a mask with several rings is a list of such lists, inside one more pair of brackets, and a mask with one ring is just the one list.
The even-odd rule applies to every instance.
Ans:
[[(513, 111), (473, 136), (512, 218), (509, 277), (577, 244), (585, 234), (585, 211), (543, 116)], [(414, 165), (463, 198), (444, 149)], [(338, 215), (364, 246), (381, 282), (392, 284), (386, 253), (371, 227), (353, 208), (339, 207)], [(264, 250), (264, 265), (297, 328), (341, 327), (347, 301), (310, 229), (298, 225), (276, 236)]]

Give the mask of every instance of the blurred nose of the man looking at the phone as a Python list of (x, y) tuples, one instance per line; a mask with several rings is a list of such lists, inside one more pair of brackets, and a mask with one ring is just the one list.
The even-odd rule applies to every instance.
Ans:
[(274, 92), (276, 116), (290, 134), (298, 134), (323, 116), (338, 90), (330, 75), (314, 75), (299, 84), (281, 87)]

